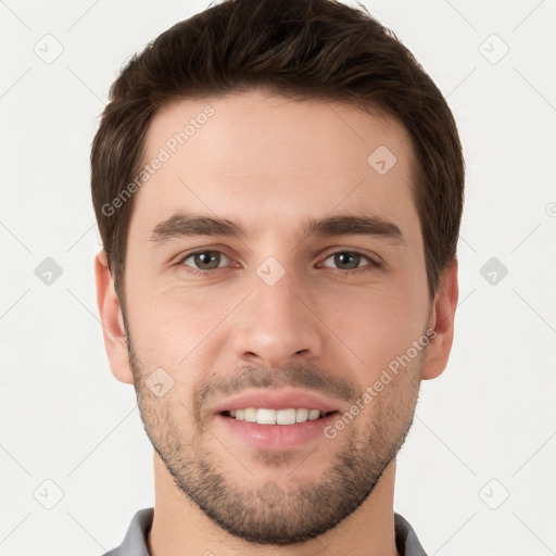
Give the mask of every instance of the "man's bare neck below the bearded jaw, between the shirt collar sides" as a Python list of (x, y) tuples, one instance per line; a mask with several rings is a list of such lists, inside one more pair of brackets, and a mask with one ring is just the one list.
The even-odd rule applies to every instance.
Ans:
[(154, 453), (155, 504), (148, 534), (151, 556), (397, 556), (394, 534), (395, 460), (386, 468), (368, 498), (326, 533), (295, 545), (261, 545), (224, 531), (174, 483)]

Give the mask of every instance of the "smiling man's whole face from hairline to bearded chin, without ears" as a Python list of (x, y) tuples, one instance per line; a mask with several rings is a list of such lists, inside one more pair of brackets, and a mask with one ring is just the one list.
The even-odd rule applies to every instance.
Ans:
[(413, 418), (431, 304), (409, 138), (388, 116), (250, 91), (167, 105), (143, 161), (161, 148), (125, 269), (146, 430), (228, 532), (314, 538), (367, 498)]

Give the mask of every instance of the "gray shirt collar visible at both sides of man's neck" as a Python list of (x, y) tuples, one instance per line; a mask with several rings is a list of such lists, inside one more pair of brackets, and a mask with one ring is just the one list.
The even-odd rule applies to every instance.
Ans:
[[(140, 509), (131, 519), (124, 542), (103, 556), (150, 556), (147, 533), (151, 529), (154, 508)], [(394, 514), (395, 544), (401, 556), (427, 556), (412, 526), (400, 514)]]

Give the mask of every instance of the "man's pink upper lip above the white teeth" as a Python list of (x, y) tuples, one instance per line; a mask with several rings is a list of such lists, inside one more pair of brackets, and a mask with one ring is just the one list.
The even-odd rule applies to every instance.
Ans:
[(267, 409), (289, 409), (305, 407), (319, 412), (337, 412), (338, 405), (321, 395), (303, 390), (252, 390), (231, 396), (214, 407), (214, 413), (244, 409), (247, 407)]

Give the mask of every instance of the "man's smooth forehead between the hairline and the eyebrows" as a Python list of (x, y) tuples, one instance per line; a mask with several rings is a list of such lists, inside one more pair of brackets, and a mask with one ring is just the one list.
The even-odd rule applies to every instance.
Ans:
[(336, 207), (416, 217), (404, 126), (353, 105), (262, 90), (174, 101), (153, 118), (142, 163), (131, 219), (151, 228), (186, 208), (232, 211), (252, 231), (265, 224), (256, 215), (293, 226)]

